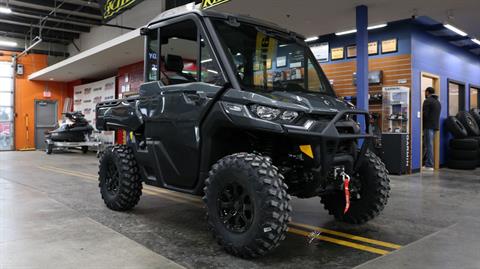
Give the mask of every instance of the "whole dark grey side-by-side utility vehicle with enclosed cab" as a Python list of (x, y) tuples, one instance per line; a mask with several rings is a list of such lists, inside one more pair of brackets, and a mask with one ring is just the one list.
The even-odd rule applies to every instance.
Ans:
[(203, 195), (215, 239), (244, 258), (285, 238), (290, 195), (319, 196), (354, 224), (383, 210), (389, 178), (368, 150), (368, 113), (336, 98), (303, 37), (198, 10), (166, 12), (142, 34), (139, 97), (97, 105), (99, 130), (129, 134), (100, 160), (109, 208), (134, 207), (142, 182)]

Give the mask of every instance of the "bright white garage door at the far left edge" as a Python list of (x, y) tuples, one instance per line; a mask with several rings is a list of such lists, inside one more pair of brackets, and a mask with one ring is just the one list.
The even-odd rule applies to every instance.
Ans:
[(0, 62), (0, 151), (13, 150), (13, 68)]

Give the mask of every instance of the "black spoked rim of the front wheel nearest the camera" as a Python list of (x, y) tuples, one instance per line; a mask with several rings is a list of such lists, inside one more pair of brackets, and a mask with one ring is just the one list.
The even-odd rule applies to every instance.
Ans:
[(252, 225), (253, 201), (247, 190), (238, 183), (229, 183), (220, 192), (218, 210), (220, 220), (229, 231), (243, 233)]

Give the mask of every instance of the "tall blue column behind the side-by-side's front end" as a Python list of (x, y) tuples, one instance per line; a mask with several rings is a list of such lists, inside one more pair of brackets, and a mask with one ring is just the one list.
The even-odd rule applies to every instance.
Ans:
[(357, 107), (368, 111), (368, 7), (357, 6)]

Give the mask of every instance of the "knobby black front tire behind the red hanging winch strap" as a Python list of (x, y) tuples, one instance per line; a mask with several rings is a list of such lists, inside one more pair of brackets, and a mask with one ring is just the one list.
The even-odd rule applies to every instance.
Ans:
[[(351, 224), (365, 223), (380, 214), (385, 208), (390, 197), (390, 179), (388, 171), (380, 158), (368, 151), (365, 153), (365, 161), (359, 169), (359, 173), (352, 180), (360, 180), (360, 199), (352, 197), (350, 209), (346, 214), (345, 193), (336, 192), (320, 197), (321, 203), (330, 215), (337, 220)], [(352, 186), (353, 183), (350, 183)]]

